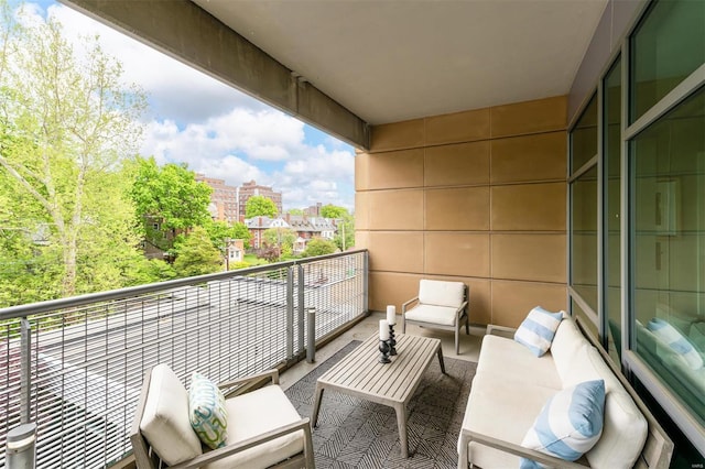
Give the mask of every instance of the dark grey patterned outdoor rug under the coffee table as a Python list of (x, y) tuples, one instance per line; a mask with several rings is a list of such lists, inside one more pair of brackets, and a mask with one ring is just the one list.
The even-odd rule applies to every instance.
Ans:
[[(360, 343), (351, 341), (286, 391), (302, 416), (311, 417), (316, 379)], [(409, 403), (408, 459), (400, 456), (392, 407), (326, 390), (313, 429), (316, 468), (456, 468), (458, 434), (477, 363), (444, 361), (447, 374), (434, 359)]]

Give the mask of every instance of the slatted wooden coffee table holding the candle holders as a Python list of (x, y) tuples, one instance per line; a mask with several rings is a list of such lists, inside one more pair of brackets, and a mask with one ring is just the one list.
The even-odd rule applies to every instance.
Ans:
[(367, 401), (389, 405), (397, 412), (401, 456), (409, 457), (406, 434), (406, 404), (419, 386), (421, 375), (434, 356), (438, 357), (445, 374), (441, 340), (429, 337), (397, 336), (397, 356), (391, 363), (382, 364), (379, 358), (379, 336), (375, 335), (326, 371), (316, 382), (316, 397), (312, 422), (318, 422), (318, 411), (324, 390), (334, 390)]

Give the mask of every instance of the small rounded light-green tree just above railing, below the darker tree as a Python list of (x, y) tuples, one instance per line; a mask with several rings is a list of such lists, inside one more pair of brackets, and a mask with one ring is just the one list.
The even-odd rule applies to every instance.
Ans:
[(191, 233), (180, 238), (175, 244), (174, 271), (180, 277), (204, 275), (223, 270), (223, 257), (213, 246), (208, 233), (196, 227)]

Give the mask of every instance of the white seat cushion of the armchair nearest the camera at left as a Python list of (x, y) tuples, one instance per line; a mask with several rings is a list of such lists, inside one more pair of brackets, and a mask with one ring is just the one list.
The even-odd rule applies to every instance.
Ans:
[[(269, 385), (230, 397), (226, 401), (226, 408), (228, 411), (228, 445), (301, 421), (301, 416), (279, 385)], [(265, 468), (295, 456), (303, 449), (304, 433), (299, 430), (212, 462), (204, 468)]]

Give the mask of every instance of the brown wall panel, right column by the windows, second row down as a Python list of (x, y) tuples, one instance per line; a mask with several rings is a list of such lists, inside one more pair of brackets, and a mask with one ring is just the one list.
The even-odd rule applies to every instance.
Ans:
[(563, 131), (492, 140), (491, 183), (565, 181), (566, 141)]

